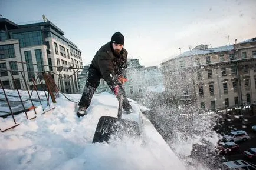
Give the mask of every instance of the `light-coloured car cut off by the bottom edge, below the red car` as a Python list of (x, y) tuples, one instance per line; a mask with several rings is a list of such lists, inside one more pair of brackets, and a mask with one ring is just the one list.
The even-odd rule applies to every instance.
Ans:
[(246, 161), (243, 160), (236, 160), (236, 161), (228, 161), (228, 162), (223, 162), (221, 164), (221, 169), (222, 170), (239, 170), (239, 169), (245, 169), (245, 170), (255, 170), (256, 167), (252, 166)]

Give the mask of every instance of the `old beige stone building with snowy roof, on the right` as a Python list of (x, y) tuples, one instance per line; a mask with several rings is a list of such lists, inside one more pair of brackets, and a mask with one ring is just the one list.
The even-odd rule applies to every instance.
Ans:
[[(166, 93), (208, 111), (252, 114), (256, 102), (254, 44), (251, 39), (234, 46), (199, 45), (163, 62)], [(248, 111), (241, 109), (246, 105), (251, 105)]]

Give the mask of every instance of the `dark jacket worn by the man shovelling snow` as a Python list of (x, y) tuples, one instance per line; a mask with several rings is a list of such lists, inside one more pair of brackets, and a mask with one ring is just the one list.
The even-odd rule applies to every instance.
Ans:
[(114, 55), (112, 42), (110, 41), (96, 52), (91, 65), (101, 73), (102, 78), (109, 85), (115, 86), (118, 84), (117, 76), (126, 77), (127, 55), (128, 52), (124, 48), (119, 56)]

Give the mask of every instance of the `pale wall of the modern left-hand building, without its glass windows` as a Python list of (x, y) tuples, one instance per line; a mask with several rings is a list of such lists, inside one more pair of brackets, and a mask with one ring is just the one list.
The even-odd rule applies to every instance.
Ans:
[[(0, 24), (6, 24), (10, 21), (8, 19), (2, 19)], [(78, 92), (78, 81), (77, 81), (77, 76), (78, 73), (81, 73), (81, 71), (76, 72), (74, 74), (75, 70), (71, 69), (66, 69), (67, 67), (73, 66), (74, 68), (83, 68), (83, 61), (81, 59), (81, 51), (77, 48), (76, 45), (74, 45), (71, 41), (68, 41), (68, 39), (64, 38), (63, 34), (64, 32), (61, 31), (60, 29), (57, 28), (57, 26), (53, 25), (51, 22), (42, 22), (38, 24), (31, 24), (31, 25), (22, 25), (21, 29), (19, 28), (18, 25), (15, 26), (15, 29), (9, 29), (9, 32), (12, 31), (17, 31), (18, 32), (29, 32), (33, 31), (33, 28), (40, 28), (38, 25), (45, 25), (45, 29), (41, 29), (42, 33), (42, 39), (43, 39), (43, 44), (42, 45), (34, 45), (34, 46), (28, 46), (24, 48), (20, 48), (19, 46), (19, 39), (8, 39), (5, 41), (0, 41), (0, 45), (6, 45), (6, 44), (14, 44), (14, 49), (15, 49), (15, 58), (5, 58), (8, 61), (18, 61), (18, 62), (26, 62), (25, 60), (25, 51), (31, 51), (31, 56), (32, 56), (32, 64), (37, 64), (36, 57), (35, 57), (35, 50), (36, 49), (41, 49), (42, 52), (42, 60), (44, 65), (49, 65), (48, 59), (51, 59), (52, 66), (57, 66), (57, 59), (60, 60), (60, 64), (58, 66), (63, 66), (65, 67), (63, 71), (60, 72), (61, 76), (65, 76), (65, 78), (61, 78), (59, 81), (59, 72), (57, 71), (57, 68), (52, 67), (51, 75), (54, 77), (55, 84), (59, 85), (59, 88), (62, 92), (68, 92), (68, 93), (76, 93)], [(51, 25), (51, 26), (50, 26)], [(60, 32), (58, 34), (57, 31), (54, 31), (52, 29), (52, 26)], [(48, 34), (47, 31), (48, 30)], [(4, 30), (6, 31), (6, 30)], [(51, 32), (51, 33), (50, 33)], [(57, 34), (59, 37), (57, 37)], [(51, 36), (49, 36), (51, 35)], [(45, 36), (48, 36), (44, 38)], [(60, 38), (62, 37), (62, 38)], [(30, 38), (30, 36), (29, 36)], [(46, 42), (49, 42), (49, 46), (45, 45)], [(58, 54), (55, 53), (55, 44), (57, 44), (57, 49), (58, 49)], [(61, 56), (61, 50), (60, 50), (60, 45), (63, 46), (65, 49), (65, 57)], [(71, 48), (73, 48), (76, 52), (71, 51)], [(50, 54), (49, 54), (50, 52)], [(72, 62), (73, 60), (73, 62)], [(64, 63), (63, 63), (63, 62)], [(4, 61), (0, 60), (0, 63)], [(65, 63), (67, 62), (67, 64)], [(6, 64), (7, 69), (10, 69), (9, 64)], [(27, 64), (17, 64), (18, 70), (19, 71), (27, 71)], [(37, 65), (33, 66), (34, 71), (38, 71)], [(44, 66), (44, 71), (49, 71), (49, 66)], [(71, 76), (74, 74), (73, 76)], [(68, 78), (71, 76), (70, 78)], [(28, 73), (25, 73), (25, 77), (28, 78)], [(19, 78), (22, 79), (21, 75), (14, 75), (14, 78)], [(8, 74), (8, 76), (2, 76), (1, 80), (2, 81), (7, 81), (11, 79), (11, 75)], [(11, 82), (12, 83), (12, 82)], [(44, 82), (43, 82), (44, 83)], [(32, 82), (29, 82), (29, 85), (32, 85)], [(21, 89), (25, 89), (25, 87), (21, 86)]]

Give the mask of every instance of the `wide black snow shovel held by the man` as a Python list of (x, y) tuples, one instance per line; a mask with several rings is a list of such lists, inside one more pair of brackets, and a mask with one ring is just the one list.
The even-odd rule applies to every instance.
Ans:
[(139, 136), (139, 124), (136, 121), (122, 119), (123, 95), (120, 96), (117, 118), (101, 116), (93, 137), (93, 143), (109, 142), (111, 136), (123, 139), (123, 136)]

